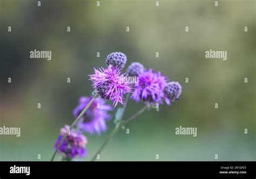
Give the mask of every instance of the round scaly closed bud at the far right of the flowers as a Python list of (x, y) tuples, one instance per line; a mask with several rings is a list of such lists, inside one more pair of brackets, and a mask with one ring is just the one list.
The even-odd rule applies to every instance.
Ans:
[(168, 82), (164, 88), (164, 94), (165, 94), (164, 99), (167, 105), (171, 104), (170, 101), (177, 101), (181, 94), (181, 86), (179, 82), (176, 82), (176, 81)]

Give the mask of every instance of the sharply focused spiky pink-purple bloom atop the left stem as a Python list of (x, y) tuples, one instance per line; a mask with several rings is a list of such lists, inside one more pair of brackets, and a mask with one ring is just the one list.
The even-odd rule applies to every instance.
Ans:
[(127, 75), (120, 74), (118, 67), (109, 66), (106, 69), (95, 69), (95, 74), (91, 74), (93, 88), (103, 99), (110, 99), (113, 101), (114, 107), (118, 102), (124, 105), (124, 94), (131, 92)]

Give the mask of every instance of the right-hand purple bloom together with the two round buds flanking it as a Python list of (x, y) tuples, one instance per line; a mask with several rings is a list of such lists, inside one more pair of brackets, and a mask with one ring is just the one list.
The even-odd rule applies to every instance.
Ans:
[(143, 101), (148, 104), (163, 104), (163, 99), (167, 105), (170, 101), (177, 101), (181, 94), (179, 82), (167, 82), (169, 79), (154, 70), (145, 70), (142, 64), (132, 63), (127, 68), (127, 73), (138, 76), (139, 82), (134, 85), (131, 99), (136, 102)]

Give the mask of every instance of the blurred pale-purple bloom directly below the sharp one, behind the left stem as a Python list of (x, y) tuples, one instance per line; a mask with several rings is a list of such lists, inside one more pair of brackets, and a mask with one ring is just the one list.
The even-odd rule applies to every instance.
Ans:
[[(85, 106), (89, 104), (93, 97), (80, 97), (78, 106), (73, 110), (73, 115), (75, 118), (83, 111)], [(105, 100), (97, 98), (92, 102), (91, 106), (84, 113), (82, 118), (78, 123), (78, 127), (84, 132), (89, 134), (97, 133), (98, 135), (101, 132), (106, 131), (106, 120), (111, 119), (111, 115), (107, 114), (108, 111), (112, 111), (113, 107), (105, 104)]]

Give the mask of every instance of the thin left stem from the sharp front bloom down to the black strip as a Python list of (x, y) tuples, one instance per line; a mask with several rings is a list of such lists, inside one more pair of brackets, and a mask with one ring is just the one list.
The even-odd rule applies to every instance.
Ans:
[(55, 152), (53, 153), (52, 157), (51, 157), (51, 162), (53, 161), (53, 159), (55, 158), (60, 146), (62, 145), (62, 143), (64, 142), (64, 140), (66, 139), (66, 136), (68, 136), (69, 132), (71, 131), (71, 129), (77, 124), (77, 122), (79, 121), (80, 118), (82, 118), (82, 116), (84, 115), (84, 113), (87, 111), (87, 109), (91, 106), (92, 102), (94, 100), (96, 100), (99, 97), (98, 94), (95, 94), (92, 98), (92, 100), (89, 102), (89, 104), (87, 104), (85, 106), (85, 108), (83, 109), (83, 111), (78, 115), (77, 119), (72, 123), (72, 125), (70, 126), (70, 128), (68, 130), (66, 130), (65, 135), (62, 137), (62, 140), (59, 142), (58, 147), (55, 149)]

